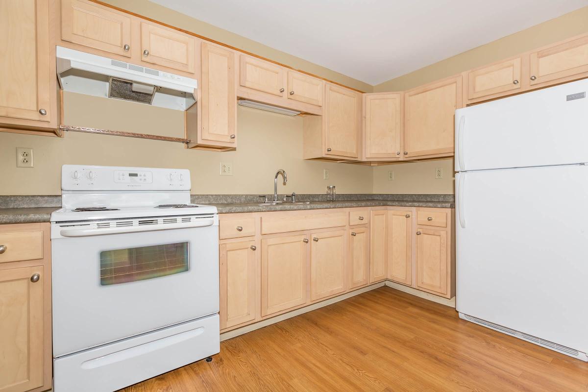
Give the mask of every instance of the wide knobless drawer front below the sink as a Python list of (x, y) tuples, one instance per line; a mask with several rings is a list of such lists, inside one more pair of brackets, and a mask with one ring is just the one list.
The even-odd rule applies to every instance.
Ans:
[(345, 212), (289, 216), (262, 216), (261, 233), (273, 234), (300, 232), (302, 230), (326, 229), (327, 227), (339, 227), (345, 225), (347, 225), (347, 214)]

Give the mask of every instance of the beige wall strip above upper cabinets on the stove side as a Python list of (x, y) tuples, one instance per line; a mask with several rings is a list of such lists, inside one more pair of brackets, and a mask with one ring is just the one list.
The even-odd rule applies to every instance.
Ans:
[[(358, 89), (363, 92), (372, 92), (373, 86), (358, 81), (357, 79), (345, 76), (342, 73), (331, 71), (328, 68), (317, 65), (315, 63), (303, 60), (299, 57), (289, 55), (288, 53), (278, 51), (270, 48), (262, 43), (245, 38), (230, 31), (218, 28), (211, 24), (191, 18), (190, 16), (173, 11), (173, 9), (165, 8), (159, 4), (152, 3), (146, 0), (102, 0), (105, 3), (117, 6), (122, 9), (134, 12), (147, 18), (155, 19), (156, 21), (166, 23), (187, 31), (205, 36), (206, 38), (215, 41), (226, 43), (246, 52), (255, 53), (258, 56), (265, 57), (272, 61), (276, 61), (295, 69), (302, 69), (302, 71), (313, 73), (333, 82), (342, 83), (343, 85)], [(195, 3), (196, 6), (197, 3)]]

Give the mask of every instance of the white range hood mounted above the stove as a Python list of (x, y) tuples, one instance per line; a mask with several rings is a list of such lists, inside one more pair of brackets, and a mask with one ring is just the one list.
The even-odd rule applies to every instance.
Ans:
[(198, 81), (173, 73), (57, 46), (57, 76), (64, 91), (186, 110)]

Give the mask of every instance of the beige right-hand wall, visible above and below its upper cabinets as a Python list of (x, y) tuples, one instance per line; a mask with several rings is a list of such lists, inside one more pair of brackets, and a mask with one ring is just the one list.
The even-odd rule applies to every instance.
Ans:
[[(577, 9), (540, 25), (514, 33), (435, 64), (374, 86), (375, 92), (403, 91), (446, 78), (468, 69), (530, 51), (588, 32), (588, 7)], [(435, 179), (435, 167), (443, 168), (443, 179)], [(388, 170), (396, 180), (388, 181)], [(373, 170), (374, 193), (454, 193), (453, 159), (378, 166)]]

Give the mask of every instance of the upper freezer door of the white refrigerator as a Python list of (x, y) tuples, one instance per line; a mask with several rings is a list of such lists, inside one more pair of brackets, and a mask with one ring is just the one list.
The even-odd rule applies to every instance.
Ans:
[(455, 113), (455, 170), (588, 162), (588, 79)]

